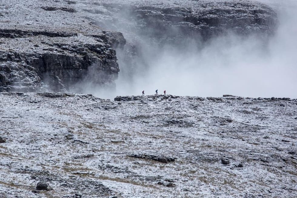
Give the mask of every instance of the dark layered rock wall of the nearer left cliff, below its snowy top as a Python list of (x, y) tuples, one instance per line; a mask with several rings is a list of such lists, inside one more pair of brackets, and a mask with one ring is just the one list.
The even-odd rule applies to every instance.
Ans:
[[(43, 87), (45, 90), (79, 92), (81, 90), (75, 87), (77, 83), (115, 86), (118, 63), (112, 43), (103, 40), (106, 36), (101, 39), (100, 35), (87, 38), (84, 35), (42, 32), (34, 38), (34, 32), (0, 30), (0, 36), (1, 31), (8, 37), (2, 39), (5, 44), (13, 47), (22, 40), (24, 48), (0, 51), (0, 91), (32, 92), (42, 91)], [(12, 37), (15, 39), (9, 39)], [(52, 37), (55, 41), (48, 41)], [(78, 41), (72, 43), (68, 39)], [(83, 42), (83, 39), (90, 42)], [(31, 50), (27, 50), (28, 47)]]

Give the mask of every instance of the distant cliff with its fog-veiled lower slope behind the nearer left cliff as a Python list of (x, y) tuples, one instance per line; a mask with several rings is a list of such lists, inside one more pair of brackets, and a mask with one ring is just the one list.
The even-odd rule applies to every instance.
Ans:
[(77, 1), (75, 6), (86, 13), (88, 20), (102, 28), (122, 32), (127, 39), (124, 50), (117, 50), (121, 75), (127, 81), (133, 81), (134, 74), (145, 75), (151, 60), (159, 59), (163, 52), (185, 52), (181, 57), (186, 57), (186, 52), (203, 49), (212, 38), (231, 34), (243, 38), (252, 35), (265, 43), (278, 23), (272, 8), (252, 1), (84, 2)]

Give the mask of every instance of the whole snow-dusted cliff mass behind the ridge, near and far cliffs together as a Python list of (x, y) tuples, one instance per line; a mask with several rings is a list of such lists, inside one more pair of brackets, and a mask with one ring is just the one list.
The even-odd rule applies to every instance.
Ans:
[(147, 40), (198, 44), (230, 31), (266, 37), (276, 23), (268, 6), (239, 0), (6, 1), (0, 5), (0, 91), (81, 92), (81, 83), (114, 88), (115, 50), (124, 49), (123, 62), (137, 67)]

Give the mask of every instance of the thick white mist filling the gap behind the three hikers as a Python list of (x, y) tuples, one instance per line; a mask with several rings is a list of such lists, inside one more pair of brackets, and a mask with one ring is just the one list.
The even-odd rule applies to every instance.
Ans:
[[(142, 38), (143, 59), (136, 68), (124, 61), (117, 51), (120, 67), (116, 91), (101, 97), (155, 94), (166, 90), (179, 96), (214, 96), (232, 94), (244, 97), (297, 98), (297, 3), (295, 1), (260, 1), (278, 14), (275, 35), (263, 43), (257, 35), (228, 35), (209, 40), (203, 46), (154, 45)], [(128, 38), (128, 31), (123, 31)], [(122, 53), (122, 54), (121, 54)]]

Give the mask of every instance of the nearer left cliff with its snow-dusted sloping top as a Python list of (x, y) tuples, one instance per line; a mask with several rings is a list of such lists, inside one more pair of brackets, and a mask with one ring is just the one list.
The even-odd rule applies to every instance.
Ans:
[(113, 47), (125, 44), (121, 33), (89, 25), (67, 2), (53, 3), (59, 9), (25, 1), (14, 9), (14, 3), (0, 6), (0, 91), (80, 92), (80, 83), (115, 87)]

